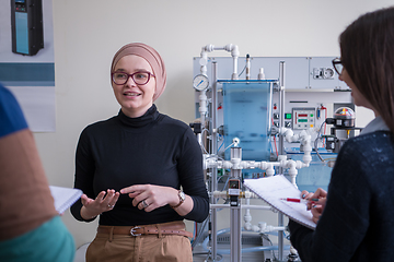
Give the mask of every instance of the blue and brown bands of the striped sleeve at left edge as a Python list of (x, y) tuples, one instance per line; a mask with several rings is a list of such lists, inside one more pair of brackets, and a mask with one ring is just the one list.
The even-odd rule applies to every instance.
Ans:
[(33, 133), (10, 91), (0, 85), (0, 241), (57, 215)]

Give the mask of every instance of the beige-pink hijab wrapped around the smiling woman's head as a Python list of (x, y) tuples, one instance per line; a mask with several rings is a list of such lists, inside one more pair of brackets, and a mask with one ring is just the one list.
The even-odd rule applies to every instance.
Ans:
[(153, 74), (157, 81), (157, 90), (153, 95), (153, 102), (159, 98), (159, 96), (164, 92), (166, 83), (166, 72), (164, 67), (164, 61), (157, 50), (152, 47), (142, 44), (142, 43), (131, 43), (123, 46), (114, 56), (111, 72), (114, 71), (116, 63), (120, 58), (129, 55), (136, 55), (146, 59), (149, 64), (152, 67)]

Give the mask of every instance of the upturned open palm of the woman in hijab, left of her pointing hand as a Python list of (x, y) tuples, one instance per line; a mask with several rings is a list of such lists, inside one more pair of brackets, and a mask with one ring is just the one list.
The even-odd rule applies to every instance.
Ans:
[(115, 192), (113, 189), (108, 189), (107, 192), (101, 191), (95, 200), (88, 198), (86, 194), (82, 194), (81, 202), (83, 204), (81, 209), (81, 216), (83, 219), (92, 219), (103, 212), (107, 212), (114, 209), (120, 193)]

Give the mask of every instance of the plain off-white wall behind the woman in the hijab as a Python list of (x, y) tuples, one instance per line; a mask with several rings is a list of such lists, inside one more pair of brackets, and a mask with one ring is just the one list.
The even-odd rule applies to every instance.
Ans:
[[(118, 112), (109, 84), (113, 55), (142, 41), (164, 58), (167, 87), (161, 112), (194, 120), (193, 57), (207, 44), (235, 44), (241, 56), (338, 56), (339, 33), (361, 13), (391, 0), (54, 0), (57, 128), (35, 133), (51, 184), (72, 187), (82, 129)], [(228, 56), (215, 53), (215, 56)], [(370, 112), (368, 112), (371, 116)], [(96, 223), (62, 217), (77, 246)]]

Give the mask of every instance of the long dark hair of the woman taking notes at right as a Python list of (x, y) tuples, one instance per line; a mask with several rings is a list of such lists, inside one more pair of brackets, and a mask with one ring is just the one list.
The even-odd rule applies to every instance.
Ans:
[(366, 13), (339, 36), (340, 60), (394, 133), (394, 7)]

